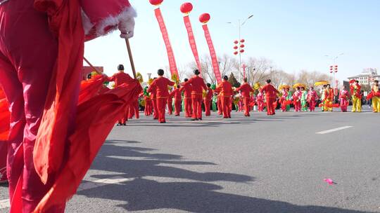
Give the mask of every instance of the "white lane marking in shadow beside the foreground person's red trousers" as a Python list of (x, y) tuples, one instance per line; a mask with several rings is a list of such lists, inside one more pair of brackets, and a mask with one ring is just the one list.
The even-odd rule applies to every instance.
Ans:
[[(97, 179), (96, 181), (86, 181), (82, 184), (80, 184), (77, 192), (85, 191), (93, 188), (98, 188), (101, 186), (106, 186), (109, 184), (121, 184), (122, 182), (126, 181), (133, 181), (134, 178), (125, 178), (125, 177), (111, 177), (107, 179)], [(9, 199), (6, 200), (0, 200), (0, 209), (5, 209), (11, 207), (11, 204), (9, 203)]]

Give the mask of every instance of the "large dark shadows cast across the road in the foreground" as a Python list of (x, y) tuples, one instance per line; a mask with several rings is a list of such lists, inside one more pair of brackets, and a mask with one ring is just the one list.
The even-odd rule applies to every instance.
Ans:
[[(113, 142), (117, 143), (114, 144)], [(85, 195), (89, 198), (125, 201), (125, 205), (118, 205), (118, 207), (131, 212), (177, 209), (196, 213), (364, 213), (335, 207), (293, 205), (289, 202), (218, 192), (218, 190), (223, 189), (222, 186), (210, 182), (231, 181), (249, 184), (255, 179), (241, 174), (201, 173), (172, 167), (170, 165), (215, 164), (185, 161), (182, 156), (172, 154), (144, 153), (156, 151), (154, 149), (122, 146), (128, 143), (115, 140), (106, 142), (91, 169), (117, 172), (121, 174), (119, 176), (132, 178), (132, 181), (80, 191), (79, 195)], [(112, 176), (115, 175), (94, 175), (92, 177), (104, 179)], [(158, 182), (144, 179), (144, 177), (166, 177), (182, 180)]]

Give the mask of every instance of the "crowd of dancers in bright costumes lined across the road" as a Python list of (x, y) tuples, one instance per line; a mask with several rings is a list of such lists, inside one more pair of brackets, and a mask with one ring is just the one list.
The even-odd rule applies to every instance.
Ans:
[[(108, 78), (115, 81), (115, 85), (121, 85), (125, 79), (131, 78), (125, 74), (124, 67), (119, 65), (118, 73)], [(153, 116), (160, 123), (166, 123), (165, 114), (180, 116), (184, 113), (186, 118), (192, 121), (202, 121), (203, 111), (205, 116), (210, 116), (211, 111), (217, 111), (222, 118), (231, 118), (232, 110), (243, 112), (249, 117), (251, 111), (267, 111), (267, 115), (274, 115), (275, 110), (283, 112), (291, 111), (315, 111), (320, 107), (322, 111), (333, 111), (340, 108), (346, 112), (350, 102), (353, 104), (353, 112), (362, 111), (363, 93), (359, 81), (350, 81), (350, 88), (334, 90), (329, 83), (320, 85), (319, 91), (314, 86), (309, 88), (298, 83), (296, 85), (281, 85), (274, 87), (268, 79), (265, 85), (250, 85), (247, 79), (239, 88), (234, 88), (229, 83), (228, 76), (223, 76), (222, 82), (217, 85), (205, 83), (198, 70), (194, 76), (183, 82), (174, 82), (165, 78), (163, 69), (158, 70), (158, 78), (153, 78), (148, 83), (144, 92), (132, 102), (126, 114), (120, 119), (118, 125), (126, 125), (128, 119), (139, 118), (139, 109), (144, 110), (145, 116)], [(338, 97), (338, 102), (336, 102)], [(372, 99), (374, 112), (380, 112), (379, 81), (374, 81), (372, 91), (367, 96)]]

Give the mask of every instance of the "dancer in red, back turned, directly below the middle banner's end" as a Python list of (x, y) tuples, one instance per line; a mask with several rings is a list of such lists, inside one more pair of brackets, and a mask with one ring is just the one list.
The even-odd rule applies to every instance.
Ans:
[(193, 115), (191, 117), (192, 121), (202, 121), (202, 100), (203, 100), (203, 90), (207, 91), (208, 88), (205, 85), (205, 81), (199, 75), (198, 69), (194, 70), (195, 76), (190, 78), (189, 81), (183, 83), (184, 87), (191, 84), (191, 102), (193, 103)]

